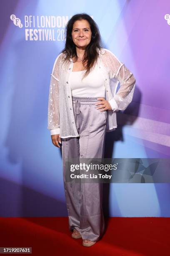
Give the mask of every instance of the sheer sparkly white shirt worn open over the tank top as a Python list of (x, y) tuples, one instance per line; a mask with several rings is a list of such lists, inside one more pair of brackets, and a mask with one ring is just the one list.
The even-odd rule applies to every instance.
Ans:
[[(125, 110), (133, 99), (136, 79), (132, 72), (108, 49), (97, 49), (99, 58), (97, 64), (105, 80), (106, 100), (117, 104), (115, 110), (107, 110), (106, 132), (117, 128), (116, 112)], [(70, 72), (73, 61), (63, 62), (65, 53), (55, 59), (53, 65), (50, 90), (48, 97), (48, 125), (50, 134), (60, 134), (61, 138), (78, 137), (72, 110), (72, 97), (70, 88)], [(116, 92), (120, 82), (120, 88)], [(115, 104), (115, 105), (116, 105)]]

